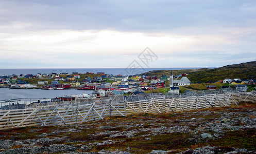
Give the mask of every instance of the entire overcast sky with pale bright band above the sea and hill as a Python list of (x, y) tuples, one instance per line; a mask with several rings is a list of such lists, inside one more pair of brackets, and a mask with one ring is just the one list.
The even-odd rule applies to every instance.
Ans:
[(256, 1), (0, 0), (0, 57), (0, 68), (255, 61)]

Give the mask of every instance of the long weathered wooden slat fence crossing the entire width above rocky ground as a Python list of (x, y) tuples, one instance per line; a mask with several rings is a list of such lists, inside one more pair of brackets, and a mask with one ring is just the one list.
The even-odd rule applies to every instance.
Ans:
[[(141, 97), (142, 98), (142, 97)], [(223, 107), (241, 101), (256, 102), (254, 92), (228, 92), (186, 98), (151, 97), (136, 101), (116, 95), (105, 100), (80, 99), (66, 102), (30, 104), (25, 109), (0, 110), (0, 129), (26, 126), (69, 125), (136, 112), (164, 113)]]

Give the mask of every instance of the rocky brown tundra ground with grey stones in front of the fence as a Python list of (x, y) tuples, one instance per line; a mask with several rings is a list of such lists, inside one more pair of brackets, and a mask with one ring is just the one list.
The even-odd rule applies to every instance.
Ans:
[(256, 153), (256, 104), (1, 130), (0, 153)]

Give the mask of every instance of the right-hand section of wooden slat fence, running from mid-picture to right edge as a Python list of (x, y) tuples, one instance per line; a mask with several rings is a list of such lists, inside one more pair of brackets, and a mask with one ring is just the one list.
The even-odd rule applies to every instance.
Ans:
[(185, 98), (158, 97), (147, 100), (125, 101), (126, 113), (165, 113), (186, 110), (196, 110), (209, 107), (223, 107), (245, 102), (256, 102), (255, 92), (226, 92), (222, 94), (206, 94), (203, 96), (191, 96)]

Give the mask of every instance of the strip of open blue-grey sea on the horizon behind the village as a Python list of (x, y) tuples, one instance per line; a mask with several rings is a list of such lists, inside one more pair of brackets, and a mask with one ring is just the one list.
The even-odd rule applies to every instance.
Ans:
[[(187, 68), (136, 68), (136, 69), (128, 69), (128, 68), (37, 68), (37, 69), (0, 69), (0, 75), (20, 75), (20, 74), (37, 74), (37, 73), (87, 73), (87, 72), (105, 72), (106, 74), (121, 74), (121, 75), (134, 75), (134, 74), (141, 74), (144, 72), (152, 71), (152, 70), (177, 70), (177, 69), (196, 69), (196, 67), (187, 67)], [(197, 67), (198, 69), (198, 67)]]

